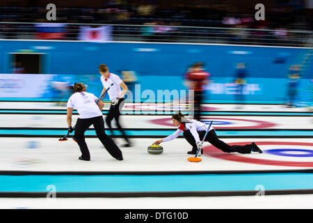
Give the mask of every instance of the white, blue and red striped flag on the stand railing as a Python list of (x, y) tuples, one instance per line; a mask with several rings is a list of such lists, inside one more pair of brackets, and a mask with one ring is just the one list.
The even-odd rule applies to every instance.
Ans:
[(35, 37), (38, 39), (65, 38), (66, 24), (63, 23), (37, 23), (35, 24)]

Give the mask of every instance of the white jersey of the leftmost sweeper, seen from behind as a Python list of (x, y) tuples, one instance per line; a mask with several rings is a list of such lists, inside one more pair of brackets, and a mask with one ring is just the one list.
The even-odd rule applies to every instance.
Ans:
[(67, 107), (77, 109), (79, 118), (102, 116), (102, 112), (95, 100), (97, 100), (97, 97), (93, 93), (88, 93), (86, 91), (77, 92), (70, 96), (67, 101)]

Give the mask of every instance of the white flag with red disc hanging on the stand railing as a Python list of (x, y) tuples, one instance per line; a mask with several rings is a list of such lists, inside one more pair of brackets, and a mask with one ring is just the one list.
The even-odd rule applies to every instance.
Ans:
[(112, 27), (99, 26), (92, 28), (90, 26), (81, 26), (79, 29), (79, 40), (90, 42), (108, 42), (112, 40)]

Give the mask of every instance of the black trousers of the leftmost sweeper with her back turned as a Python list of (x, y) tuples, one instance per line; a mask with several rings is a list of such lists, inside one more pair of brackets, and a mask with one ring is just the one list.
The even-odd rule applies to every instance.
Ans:
[(79, 144), (79, 148), (81, 149), (81, 157), (87, 160), (90, 159), (90, 153), (85, 141), (85, 132), (86, 130), (88, 130), (90, 125), (93, 125), (95, 127), (97, 138), (102, 142), (104, 148), (106, 148), (106, 150), (113, 157), (115, 157), (115, 159), (122, 157), (122, 151), (120, 151), (120, 148), (118, 148), (113, 139), (111, 139), (111, 137), (109, 137), (105, 132), (104, 120), (102, 116), (77, 119), (74, 137), (77, 141), (77, 144)]

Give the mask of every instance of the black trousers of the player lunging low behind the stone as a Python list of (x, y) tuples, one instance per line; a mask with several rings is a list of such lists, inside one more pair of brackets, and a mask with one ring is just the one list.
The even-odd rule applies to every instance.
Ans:
[[(198, 134), (199, 134), (200, 140), (202, 140), (204, 137), (205, 131), (198, 131)], [(197, 151), (198, 150), (197, 144), (190, 130), (184, 131), (184, 137), (188, 141), (188, 143), (191, 144), (191, 146), (193, 146), (193, 151)], [(230, 146), (226, 144), (224, 141), (221, 141), (220, 139), (218, 139), (215, 133), (215, 130), (210, 130), (204, 141), (208, 141), (212, 146), (215, 146), (216, 148), (220, 149), (224, 153), (235, 153), (235, 152), (251, 153), (251, 150), (252, 150), (252, 144), (247, 144), (244, 146), (238, 146), (238, 145)]]

